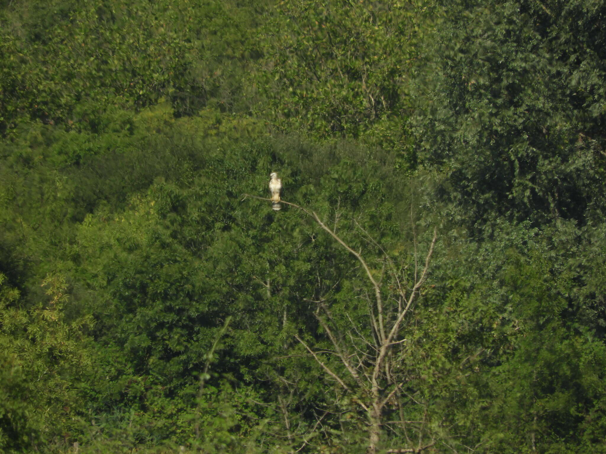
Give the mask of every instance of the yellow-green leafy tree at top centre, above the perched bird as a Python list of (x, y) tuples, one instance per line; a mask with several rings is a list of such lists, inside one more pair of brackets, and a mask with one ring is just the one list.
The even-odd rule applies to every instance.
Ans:
[(262, 114), (282, 131), (402, 150), (420, 2), (279, 2), (263, 29)]

